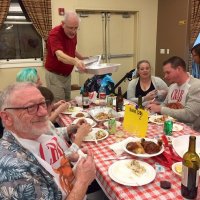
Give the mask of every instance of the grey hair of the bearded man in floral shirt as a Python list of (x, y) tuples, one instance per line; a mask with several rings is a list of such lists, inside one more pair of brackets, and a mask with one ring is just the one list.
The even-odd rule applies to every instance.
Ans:
[[(31, 82), (19, 82), (14, 83), (6, 87), (1, 93), (0, 93), (0, 111), (3, 111), (4, 108), (11, 106), (12, 100), (13, 100), (13, 93), (17, 90), (22, 90), (24, 88), (29, 87), (36, 87), (36, 84)], [(23, 97), (23, 94), (22, 94)]]

